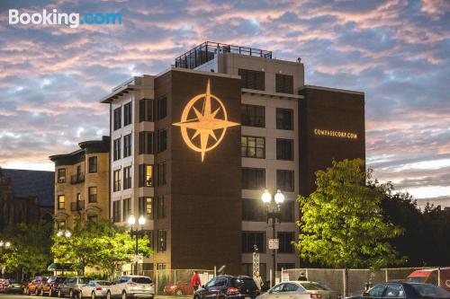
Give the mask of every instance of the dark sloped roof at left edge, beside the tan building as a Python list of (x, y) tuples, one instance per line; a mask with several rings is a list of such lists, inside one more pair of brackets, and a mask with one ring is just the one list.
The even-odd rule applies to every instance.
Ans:
[(14, 197), (37, 197), (41, 207), (53, 207), (55, 202), (55, 172), (1, 169), (1, 175), (11, 179)]

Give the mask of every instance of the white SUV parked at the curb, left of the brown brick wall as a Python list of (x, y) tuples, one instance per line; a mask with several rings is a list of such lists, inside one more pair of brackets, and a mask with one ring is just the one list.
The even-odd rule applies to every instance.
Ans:
[(138, 275), (130, 275), (119, 277), (110, 289), (106, 291), (106, 298), (121, 297), (127, 299), (129, 297), (147, 297), (155, 296), (155, 286), (150, 277), (142, 277)]

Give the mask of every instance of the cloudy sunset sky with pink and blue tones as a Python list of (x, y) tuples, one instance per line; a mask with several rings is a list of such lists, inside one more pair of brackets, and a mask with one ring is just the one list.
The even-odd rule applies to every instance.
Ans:
[[(10, 25), (21, 13), (121, 13), (122, 25)], [(108, 134), (99, 99), (204, 40), (302, 57), (306, 83), (365, 92), (367, 162), (450, 206), (450, 1), (1, 1), (0, 166)], [(423, 201), (421, 201), (423, 202)]]

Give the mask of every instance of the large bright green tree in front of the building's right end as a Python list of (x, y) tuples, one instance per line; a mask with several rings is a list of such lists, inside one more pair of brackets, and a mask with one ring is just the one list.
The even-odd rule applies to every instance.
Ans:
[(401, 235), (400, 226), (383, 217), (383, 186), (367, 186), (372, 171), (361, 159), (333, 162), (317, 172), (317, 190), (299, 198), (302, 259), (333, 268), (382, 268), (401, 263), (387, 240)]

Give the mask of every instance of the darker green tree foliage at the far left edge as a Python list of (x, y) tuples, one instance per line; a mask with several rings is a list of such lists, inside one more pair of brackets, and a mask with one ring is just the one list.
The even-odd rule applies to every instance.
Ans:
[(31, 272), (32, 275), (44, 271), (52, 260), (52, 224), (14, 224), (6, 227), (0, 239), (11, 242), (11, 247), (3, 249), (0, 263), (7, 271)]

